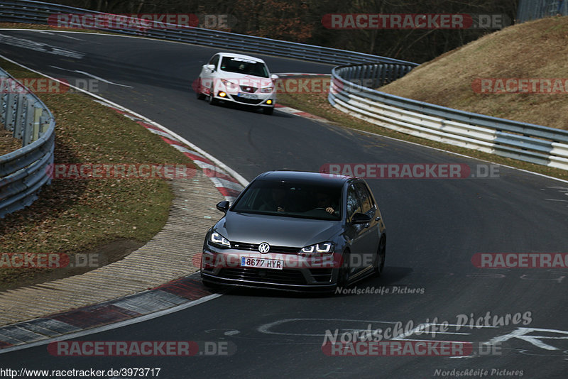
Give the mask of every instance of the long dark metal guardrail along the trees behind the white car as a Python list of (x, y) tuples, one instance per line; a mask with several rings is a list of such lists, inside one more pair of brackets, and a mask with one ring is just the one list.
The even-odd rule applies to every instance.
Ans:
[[(50, 15), (56, 13), (104, 14), (88, 9), (73, 8), (58, 4), (48, 4), (31, 0), (2, 0), (0, 3), (0, 21), (17, 23), (47, 24)], [(214, 31), (203, 28), (104, 28), (104, 31), (126, 35), (143, 35), (144, 37), (173, 40), (194, 45), (222, 48), (224, 50), (248, 51), (258, 54), (276, 55), (280, 57), (311, 60), (315, 62), (345, 65), (346, 63), (391, 62), (407, 63), (378, 55), (357, 53), (349, 50), (323, 48), (321, 46), (305, 45), (283, 40), (254, 37), (224, 31)], [(175, 27), (175, 28), (174, 28)]]

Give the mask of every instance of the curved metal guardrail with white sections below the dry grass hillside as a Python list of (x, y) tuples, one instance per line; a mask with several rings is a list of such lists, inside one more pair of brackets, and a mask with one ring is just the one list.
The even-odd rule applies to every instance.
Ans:
[[(408, 71), (408, 65), (392, 64), (335, 67), (329, 103), (351, 116), (402, 133), (568, 170), (568, 131), (459, 111), (368, 88), (388, 84)], [(371, 85), (361, 85), (367, 83)]]

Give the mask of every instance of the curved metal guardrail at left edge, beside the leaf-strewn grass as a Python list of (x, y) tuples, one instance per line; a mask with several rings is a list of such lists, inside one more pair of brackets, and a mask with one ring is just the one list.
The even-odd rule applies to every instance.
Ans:
[[(0, 94), (0, 127), (13, 132), (23, 147), (0, 156), (0, 218), (31, 204), (50, 182), (55, 120), (48, 107), (0, 68), (10, 91)], [(3, 86), (4, 87), (4, 86)], [(5, 87), (4, 87), (5, 88)]]

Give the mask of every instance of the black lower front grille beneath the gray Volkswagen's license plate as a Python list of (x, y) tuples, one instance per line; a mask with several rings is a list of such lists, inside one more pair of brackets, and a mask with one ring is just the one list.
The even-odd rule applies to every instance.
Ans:
[(304, 275), (299, 270), (270, 270), (267, 268), (223, 268), (220, 278), (250, 280), (254, 282), (278, 283), (284, 285), (306, 285)]

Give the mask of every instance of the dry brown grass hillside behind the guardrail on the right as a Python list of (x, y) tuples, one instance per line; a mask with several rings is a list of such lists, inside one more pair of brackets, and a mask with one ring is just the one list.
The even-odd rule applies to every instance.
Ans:
[[(487, 78), (561, 78), (566, 87), (559, 94), (474, 92), (472, 83)], [(485, 35), (380, 90), (464, 111), (568, 129), (568, 16), (521, 23)]]

